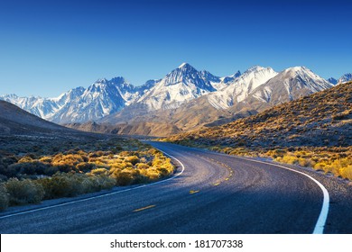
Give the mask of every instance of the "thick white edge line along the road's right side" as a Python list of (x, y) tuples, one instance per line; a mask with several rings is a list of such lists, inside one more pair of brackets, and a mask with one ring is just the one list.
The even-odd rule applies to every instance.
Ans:
[[(224, 155), (224, 156), (227, 156), (227, 157), (237, 157), (237, 156), (230, 156), (230, 155), (222, 154), (222, 153), (217, 153), (217, 154)], [(313, 234), (323, 234), (324, 233), (324, 227), (325, 227), (325, 223), (326, 223), (326, 221), (328, 219), (328, 213), (329, 213), (329, 192), (328, 192), (327, 188), (325, 188), (324, 185), (322, 185), (314, 177), (312, 177), (310, 175), (307, 175), (307, 174), (305, 174), (303, 172), (294, 170), (294, 169), (289, 168), (289, 167), (280, 166), (280, 165), (276, 165), (276, 164), (269, 163), (269, 162), (263, 162), (263, 161), (259, 161), (259, 160), (249, 159), (249, 158), (245, 158), (245, 157), (237, 157), (237, 158), (245, 159), (245, 160), (248, 160), (248, 161), (253, 161), (253, 162), (256, 162), (256, 163), (262, 163), (262, 164), (265, 164), (265, 165), (278, 166), (278, 167), (284, 168), (286, 170), (290, 170), (292, 172), (299, 173), (301, 175), (305, 175), (305, 176), (309, 177), (312, 181), (314, 181), (316, 184), (318, 184), (320, 189), (321, 189), (321, 191), (322, 191), (322, 193), (323, 193), (323, 195), (324, 195), (324, 197), (323, 197), (323, 203), (322, 203), (322, 206), (321, 206), (320, 215), (319, 215), (319, 218), (317, 220), (317, 223), (315, 224), (315, 227), (314, 227), (314, 230), (313, 230), (312, 233)]]

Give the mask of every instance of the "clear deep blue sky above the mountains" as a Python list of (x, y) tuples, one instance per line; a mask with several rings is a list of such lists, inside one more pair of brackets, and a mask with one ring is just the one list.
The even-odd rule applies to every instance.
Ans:
[(352, 1), (0, 1), (0, 94), (56, 97), (98, 78), (134, 85), (188, 62), (352, 72)]

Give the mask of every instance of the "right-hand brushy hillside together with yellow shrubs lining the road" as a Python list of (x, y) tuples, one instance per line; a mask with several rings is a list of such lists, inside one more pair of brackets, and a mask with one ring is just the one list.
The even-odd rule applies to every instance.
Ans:
[(352, 180), (352, 82), (165, 141), (265, 157)]

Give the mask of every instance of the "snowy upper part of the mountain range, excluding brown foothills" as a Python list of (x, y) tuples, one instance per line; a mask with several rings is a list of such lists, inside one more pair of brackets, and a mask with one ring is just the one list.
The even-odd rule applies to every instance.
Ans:
[[(341, 77), (338, 82), (349, 79), (352, 79), (351, 74)], [(182, 63), (162, 79), (150, 80), (140, 86), (134, 86), (124, 77), (117, 76), (110, 80), (100, 78), (88, 88), (74, 88), (56, 98), (9, 94), (0, 96), (0, 99), (49, 121), (84, 122), (98, 120), (132, 103), (142, 103), (149, 110), (171, 109), (207, 94), (208, 102), (218, 109), (227, 109), (246, 101), (249, 95), (249, 98), (267, 102), (273, 90), (280, 89), (277, 88), (280, 83), (312, 92), (332, 86), (307, 67), (291, 67), (283, 70), (279, 76), (271, 67), (255, 66), (248, 68), (242, 75), (238, 71), (231, 76), (219, 77)], [(263, 94), (258, 93), (259, 89), (264, 89)]]

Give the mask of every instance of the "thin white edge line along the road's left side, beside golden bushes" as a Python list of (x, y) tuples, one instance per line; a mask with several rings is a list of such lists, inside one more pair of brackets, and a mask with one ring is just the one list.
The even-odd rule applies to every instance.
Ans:
[(13, 216), (17, 216), (17, 215), (23, 215), (23, 214), (26, 214), (26, 213), (35, 212), (35, 211), (43, 211), (43, 210), (48, 210), (48, 209), (51, 209), (51, 208), (56, 208), (56, 207), (60, 207), (60, 206), (70, 205), (70, 204), (74, 204), (74, 203), (77, 203), (77, 202), (88, 202), (90, 200), (107, 197), (107, 196), (114, 195), (114, 194), (117, 194), (117, 193), (125, 193), (125, 192), (129, 192), (129, 191), (133, 191), (135, 189), (143, 188), (145, 186), (149, 186), (149, 185), (153, 185), (153, 184), (161, 184), (161, 183), (164, 183), (166, 181), (170, 181), (171, 179), (174, 179), (175, 177), (178, 177), (179, 175), (181, 175), (183, 173), (184, 169), (185, 169), (185, 167), (183, 166), (181, 161), (179, 159), (177, 159), (176, 157), (173, 157), (173, 156), (171, 156), (170, 154), (168, 154), (168, 153), (166, 153), (164, 151), (162, 151), (162, 153), (165, 154), (166, 156), (169, 156), (169, 157), (175, 159), (177, 162), (179, 162), (181, 164), (181, 166), (182, 166), (181, 172), (179, 172), (178, 174), (173, 175), (173, 176), (171, 176), (171, 177), (169, 177), (167, 179), (163, 179), (161, 181), (154, 182), (154, 183), (151, 183), (151, 184), (143, 184), (143, 185), (136, 186), (134, 188), (125, 189), (125, 190), (121, 190), (121, 191), (114, 192), (114, 193), (106, 193), (106, 194), (102, 194), (102, 195), (97, 195), (97, 196), (81, 199), (81, 200), (78, 200), (78, 201), (64, 202), (64, 203), (59, 203), (59, 204), (56, 204), (56, 205), (46, 206), (46, 207), (37, 208), (37, 209), (33, 209), (33, 210), (20, 211), (20, 212), (16, 212), (16, 213), (13, 213), (13, 214), (0, 216), (0, 220), (1, 219), (5, 219), (5, 218), (9, 218), (9, 217), (13, 217)]

